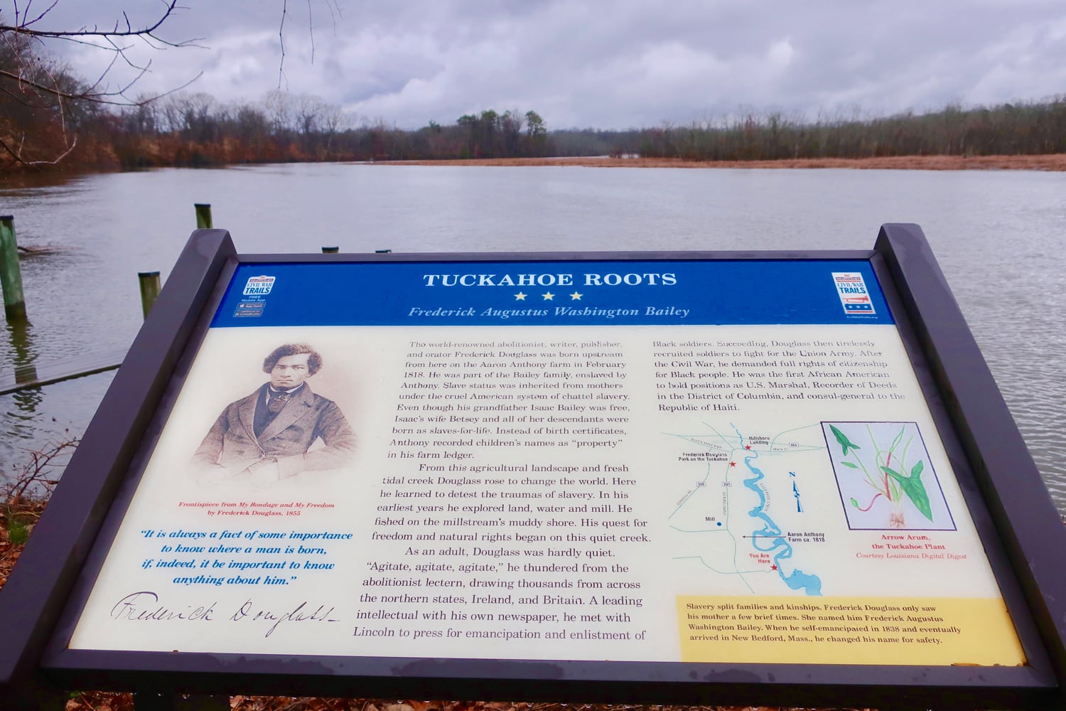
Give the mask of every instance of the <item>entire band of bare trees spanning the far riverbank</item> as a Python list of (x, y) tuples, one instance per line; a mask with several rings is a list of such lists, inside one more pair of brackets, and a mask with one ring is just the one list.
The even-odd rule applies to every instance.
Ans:
[(1066, 152), (1066, 95), (1039, 101), (865, 117), (739, 112), (625, 131), (548, 130), (536, 111), (491, 109), (401, 129), (306, 94), (222, 102), (177, 91), (112, 100), (0, 34), (0, 168), (208, 166), (287, 161), (402, 161), (629, 155), (696, 161)]

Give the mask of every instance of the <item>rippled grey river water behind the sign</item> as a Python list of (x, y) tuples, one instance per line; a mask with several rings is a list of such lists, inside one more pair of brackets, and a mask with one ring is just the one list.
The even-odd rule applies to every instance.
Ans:
[[(922, 226), (1060, 511), (1066, 512), (1066, 174), (297, 164), (167, 168), (0, 188), (31, 326), (14, 363), (120, 352), (136, 273), (165, 279), (194, 203), (241, 253), (862, 249)], [(112, 373), (0, 395), (0, 470), (80, 435)]]

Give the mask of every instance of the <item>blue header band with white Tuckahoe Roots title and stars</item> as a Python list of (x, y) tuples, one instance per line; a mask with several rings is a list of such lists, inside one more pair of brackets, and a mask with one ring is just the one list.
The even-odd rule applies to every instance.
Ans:
[(867, 260), (259, 263), (212, 327), (893, 323)]

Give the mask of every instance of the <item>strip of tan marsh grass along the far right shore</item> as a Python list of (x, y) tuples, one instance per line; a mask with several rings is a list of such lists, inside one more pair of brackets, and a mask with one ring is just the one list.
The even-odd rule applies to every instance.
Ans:
[(692, 161), (680, 158), (487, 158), (440, 161), (379, 161), (374, 165), (478, 165), (499, 167), (649, 168), (847, 168), (856, 171), (1066, 171), (1066, 153), (1040, 156), (887, 156), (882, 158), (797, 158), (775, 161)]

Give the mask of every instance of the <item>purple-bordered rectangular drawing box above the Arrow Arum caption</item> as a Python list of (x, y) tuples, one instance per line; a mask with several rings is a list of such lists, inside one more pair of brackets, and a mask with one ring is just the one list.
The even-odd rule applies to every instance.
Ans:
[(823, 422), (833, 472), (853, 530), (953, 531), (914, 422)]

